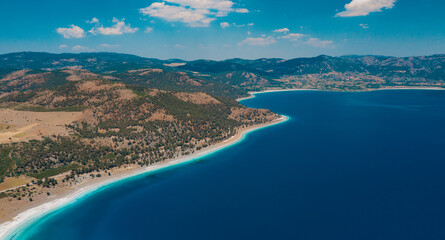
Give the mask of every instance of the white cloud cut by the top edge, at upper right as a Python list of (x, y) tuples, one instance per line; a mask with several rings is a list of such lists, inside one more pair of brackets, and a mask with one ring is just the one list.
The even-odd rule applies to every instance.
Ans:
[(372, 12), (391, 9), (397, 0), (352, 0), (345, 5), (345, 11), (336, 14), (337, 17), (367, 16)]

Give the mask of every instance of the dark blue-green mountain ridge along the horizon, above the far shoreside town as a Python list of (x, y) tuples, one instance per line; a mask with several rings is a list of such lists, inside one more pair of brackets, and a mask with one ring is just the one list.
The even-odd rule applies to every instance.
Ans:
[[(260, 58), (247, 60), (233, 58), (222, 61), (181, 59), (160, 60), (145, 58), (131, 54), (112, 52), (93, 53), (46, 53), (17, 52), (0, 55), (0, 68), (10, 69), (64, 69), (80, 67), (91, 71), (107, 71), (130, 69), (138, 67), (162, 67), (165, 64), (185, 63), (177, 68), (197, 72), (220, 73), (227, 71), (278, 72), (280, 74), (309, 74), (330, 70), (345, 71), (376, 71), (377, 67), (394, 68), (398, 70), (424, 70), (425, 72), (441, 69), (445, 66), (445, 54), (416, 57), (390, 57), (375, 55), (346, 55), (331, 57), (320, 55), (293, 59)], [(126, 66), (126, 67), (125, 67)], [(436, 68), (436, 69), (435, 69)]]

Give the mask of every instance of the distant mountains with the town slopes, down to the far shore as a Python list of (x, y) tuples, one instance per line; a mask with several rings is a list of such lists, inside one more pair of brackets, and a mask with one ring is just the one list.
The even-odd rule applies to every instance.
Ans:
[[(445, 54), (418, 57), (320, 55), (288, 60), (233, 58), (222, 61), (160, 60), (109, 52), (19, 52), (0, 55), (0, 79), (23, 69), (56, 72), (53, 75), (58, 79), (62, 79), (63, 74), (57, 71), (82, 69), (99, 74), (99, 78), (106, 75), (107, 79), (128, 84), (165, 90), (186, 88), (232, 98), (246, 95), (247, 91), (277, 88), (363, 90), (394, 86), (445, 86)], [(147, 69), (161, 69), (163, 73), (156, 70), (136, 74), (139, 70)], [(51, 85), (54, 85), (58, 80), (51, 81)]]

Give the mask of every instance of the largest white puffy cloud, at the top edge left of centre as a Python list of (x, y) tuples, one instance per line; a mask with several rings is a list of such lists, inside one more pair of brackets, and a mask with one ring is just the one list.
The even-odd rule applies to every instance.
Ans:
[(245, 8), (234, 8), (234, 5), (228, 0), (165, 0), (141, 8), (140, 12), (169, 22), (183, 22), (191, 27), (207, 27), (218, 17), (231, 12), (249, 12)]

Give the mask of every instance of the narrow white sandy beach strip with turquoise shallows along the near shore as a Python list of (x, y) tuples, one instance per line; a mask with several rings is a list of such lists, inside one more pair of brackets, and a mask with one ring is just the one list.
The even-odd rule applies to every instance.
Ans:
[(275, 119), (269, 123), (242, 128), (237, 132), (236, 135), (232, 136), (231, 138), (216, 143), (214, 145), (211, 145), (191, 155), (181, 156), (179, 158), (166, 160), (147, 167), (123, 171), (121, 173), (112, 175), (111, 177), (97, 179), (96, 181), (90, 181), (85, 183), (84, 185), (74, 187), (71, 191), (62, 194), (56, 199), (50, 199), (49, 201), (44, 202), (43, 204), (40, 204), (38, 206), (24, 209), (19, 214), (17, 214), (12, 220), (0, 223), (0, 229), (1, 229), (0, 239), (7, 239), (8, 237), (11, 236), (11, 234), (26, 228), (27, 226), (29, 226), (29, 224), (33, 223), (35, 220), (38, 220), (40, 217), (43, 217), (46, 214), (49, 214), (69, 204), (73, 204), (82, 197), (91, 194), (97, 190), (100, 190), (105, 186), (109, 186), (113, 183), (127, 180), (132, 177), (153, 173), (158, 170), (163, 170), (169, 167), (179, 166), (181, 164), (187, 164), (199, 160), (202, 157), (216, 153), (229, 146), (242, 142), (245, 136), (250, 132), (267, 128), (273, 125), (277, 125), (286, 122), (288, 120), (289, 117), (281, 116), (280, 118)]

